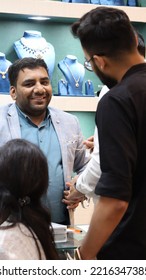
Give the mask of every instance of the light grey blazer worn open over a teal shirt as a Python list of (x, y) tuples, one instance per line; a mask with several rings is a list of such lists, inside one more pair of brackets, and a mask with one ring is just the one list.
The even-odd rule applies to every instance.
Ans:
[[(49, 111), (60, 142), (64, 179), (67, 182), (73, 172), (79, 174), (88, 162), (82, 144), (83, 136), (75, 116), (52, 107), (49, 107)], [(21, 138), (21, 130), (17, 109), (12, 103), (0, 106), (0, 146), (14, 138)]]

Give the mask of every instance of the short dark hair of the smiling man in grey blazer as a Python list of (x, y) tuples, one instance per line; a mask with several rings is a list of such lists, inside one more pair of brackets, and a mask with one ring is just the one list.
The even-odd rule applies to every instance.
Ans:
[[(48, 73), (47, 64), (43, 59), (33, 58), (33, 57), (25, 57), (22, 59), (16, 60), (12, 65), (10, 65), (8, 69), (8, 77), (11, 86), (16, 86), (19, 72), (28, 69), (35, 69), (38, 67), (43, 67)], [(48, 73), (49, 74), (49, 73)]]

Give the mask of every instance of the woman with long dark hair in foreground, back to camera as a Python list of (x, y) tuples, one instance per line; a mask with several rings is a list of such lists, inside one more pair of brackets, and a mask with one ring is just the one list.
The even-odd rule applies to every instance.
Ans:
[(47, 160), (37, 146), (15, 139), (0, 148), (0, 259), (59, 259), (41, 203), (47, 188)]

